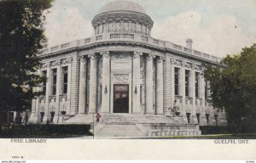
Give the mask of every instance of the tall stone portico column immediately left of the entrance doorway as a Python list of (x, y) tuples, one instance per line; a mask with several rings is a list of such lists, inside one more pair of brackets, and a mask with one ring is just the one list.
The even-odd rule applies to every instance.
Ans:
[(110, 95), (110, 56), (102, 52), (102, 114), (109, 114)]

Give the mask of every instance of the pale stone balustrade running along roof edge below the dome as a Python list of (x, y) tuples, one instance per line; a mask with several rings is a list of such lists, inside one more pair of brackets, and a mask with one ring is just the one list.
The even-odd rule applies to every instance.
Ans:
[(200, 57), (202, 59), (208, 59), (208, 60), (211, 60), (212, 62), (219, 63), (221, 61), (221, 58), (212, 56), (208, 53), (202, 53), (200, 51), (186, 48), (172, 42), (166, 42), (166, 41), (154, 39), (153, 37), (148, 37), (148, 36), (144, 36), (136, 33), (106, 33), (102, 35), (96, 35), (93, 37), (80, 39), (73, 42), (63, 43), (61, 45), (51, 47), (51, 48), (44, 48), (42, 49), (42, 53), (44, 55), (45, 53), (54, 53), (64, 49), (68, 49), (68, 48), (84, 47), (96, 42), (113, 42), (113, 41), (142, 42), (142, 43), (147, 43), (156, 48), (175, 50), (177, 52), (186, 53), (188, 55)]

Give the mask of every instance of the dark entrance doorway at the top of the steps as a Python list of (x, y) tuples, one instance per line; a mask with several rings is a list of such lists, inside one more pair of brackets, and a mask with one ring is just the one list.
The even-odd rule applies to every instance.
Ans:
[(129, 85), (113, 85), (113, 113), (129, 113)]

